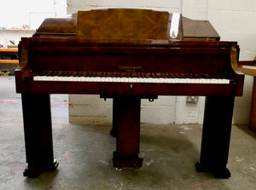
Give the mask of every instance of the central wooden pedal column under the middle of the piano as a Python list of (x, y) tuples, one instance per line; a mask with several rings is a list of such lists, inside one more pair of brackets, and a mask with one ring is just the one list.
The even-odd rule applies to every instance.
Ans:
[(143, 158), (138, 157), (140, 139), (141, 98), (139, 96), (117, 96), (114, 98), (117, 128), (116, 152), (113, 166), (117, 169), (143, 166)]

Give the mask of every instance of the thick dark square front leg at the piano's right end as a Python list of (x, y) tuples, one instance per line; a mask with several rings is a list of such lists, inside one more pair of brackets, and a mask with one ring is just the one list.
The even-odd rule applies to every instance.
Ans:
[(230, 177), (226, 168), (235, 97), (207, 97), (201, 140), (201, 158), (196, 169), (216, 178)]

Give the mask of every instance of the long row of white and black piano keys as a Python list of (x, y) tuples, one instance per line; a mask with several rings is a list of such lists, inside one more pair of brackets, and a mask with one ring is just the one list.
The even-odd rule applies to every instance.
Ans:
[(34, 81), (67, 81), (67, 82), (113, 82), (113, 83), (230, 83), (229, 79), (225, 78), (192, 78), (192, 77), (171, 77), (165, 75), (151, 74), (147, 77), (130, 76), (63, 76), (61, 75), (38, 75), (33, 77)]

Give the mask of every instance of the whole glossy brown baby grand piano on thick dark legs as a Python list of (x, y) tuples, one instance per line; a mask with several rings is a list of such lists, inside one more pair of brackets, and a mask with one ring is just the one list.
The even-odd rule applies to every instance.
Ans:
[(207, 21), (146, 9), (80, 11), (46, 19), (20, 42), (21, 93), (26, 162), (24, 176), (55, 170), (49, 94), (113, 98), (116, 151), (113, 166), (140, 168), (141, 99), (158, 95), (207, 96), (199, 171), (230, 177), (226, 168), (239, 47), (221, 42)]

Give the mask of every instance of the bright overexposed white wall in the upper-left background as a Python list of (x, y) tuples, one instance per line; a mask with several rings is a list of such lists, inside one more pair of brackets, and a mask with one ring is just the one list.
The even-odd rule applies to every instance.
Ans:
[(66, 0), (0, 0), (0, 27), (37, 29), (45, 18), (67, 14)]

